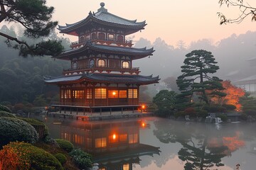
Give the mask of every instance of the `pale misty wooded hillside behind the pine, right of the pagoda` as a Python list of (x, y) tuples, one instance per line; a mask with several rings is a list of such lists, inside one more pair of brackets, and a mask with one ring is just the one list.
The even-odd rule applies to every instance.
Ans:
[(185, 55), (192, 50), (201, 49), (213, 53), (220, 67), (215, 76), (220, 79), (237, 81), (254, 75), (256, 71), (256, 32), (233, 34), (215, 44), (212, 40), (203, 39), (189, 45), (182, 40), (176, 45), (168, 45), (164, 38), (156, 38), (154, 42), (141, 38), (134, 47), (154, 47), (154, 55), (135, 60), (134, 67), (140, 67), (142, 75), (159, 75), (161, 80), (181, 75)]

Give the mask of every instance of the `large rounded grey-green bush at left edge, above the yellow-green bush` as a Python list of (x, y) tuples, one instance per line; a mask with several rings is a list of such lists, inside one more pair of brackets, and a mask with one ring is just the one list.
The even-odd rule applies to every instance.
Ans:
[(34, 143), (38, 140), (38, 132), (18, 118), (0, 117), (0, 139), (0, 147), (14, 141)]

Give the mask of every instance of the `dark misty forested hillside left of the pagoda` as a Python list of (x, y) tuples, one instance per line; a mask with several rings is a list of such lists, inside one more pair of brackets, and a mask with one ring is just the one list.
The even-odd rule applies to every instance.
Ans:
[[(14, 28), (6, 26), (1, 32), (16, 34)], [(56, 33), (46, 39), (61, 39), (65, 48), (70, 44), (68, 39), (58, 38)], [(57, 86), (44, 84), (43, 76), (59, 76), (63, 68), (69, 67), (69, 62), (54, 60), (50, 56), (21, 57), (18, 50), (7, 47), (5, 41), (6, 38), (0, 37), (0, 103), (43, 106), (51, 98), (58, 97)]]

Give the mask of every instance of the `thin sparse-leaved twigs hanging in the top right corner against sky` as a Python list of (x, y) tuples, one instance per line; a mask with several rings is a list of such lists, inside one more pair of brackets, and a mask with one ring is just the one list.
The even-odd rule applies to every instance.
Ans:
[(220, 6), (223, 4), (233, 7), (237, 7), (240, 10), (239, 16), (237, 18), (228, 19), (223, 13), (218, 12), (220, 18), (220, 25), (223, 23), (241, 23), (247, 16), (252, 16), (251, 20), (256, 21), (256, 8), (250, 6), (248, 3), (244, 3), (243, 0), (219, 0)]

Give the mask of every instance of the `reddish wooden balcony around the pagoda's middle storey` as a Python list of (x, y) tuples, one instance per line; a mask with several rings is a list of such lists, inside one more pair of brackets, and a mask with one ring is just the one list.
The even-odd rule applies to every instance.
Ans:
[(63, 69), (63, 74), (73, 74), (73, 73), (80, 73), (80, 72), (120, 72), (124, 74), (125, 72), (129, 72), (130, 74), (139, 74), (139, 67), (132, 67), (132, 68), (121, 68), (121, 67), (96, 67), (96, 66), (87, 66), (87, 67), (77, 67), (75, 69)]

